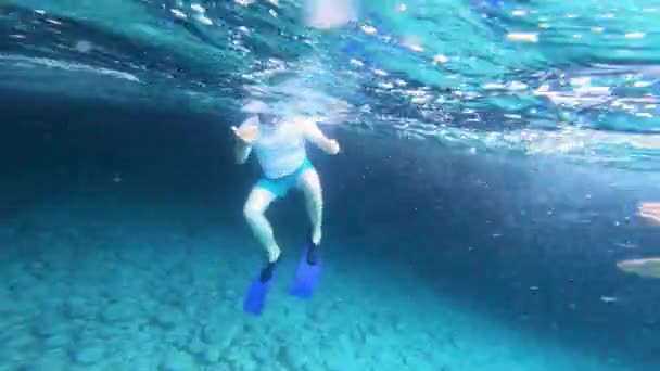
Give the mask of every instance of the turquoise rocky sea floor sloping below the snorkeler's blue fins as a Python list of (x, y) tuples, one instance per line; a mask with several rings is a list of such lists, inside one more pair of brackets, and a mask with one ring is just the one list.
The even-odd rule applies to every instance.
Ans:
[(312, 300), (287, 293), (292, 251), (254, 318), (244, 230), (130, 207), (45, 205), (0, 226), (0, 370), (629, 369), (461, 308), (396, 263), (332, 255), (341, 236)]

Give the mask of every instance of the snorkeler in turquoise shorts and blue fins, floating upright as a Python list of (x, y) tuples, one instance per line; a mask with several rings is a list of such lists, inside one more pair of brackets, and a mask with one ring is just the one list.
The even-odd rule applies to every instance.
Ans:
[(238, 128), (232, 127), (237, 138), (236, 159), (244, 164), (254, 149), (264, 174), (252, 188), (243, 208), (254, 236), (268, 252), (268, 263), (253, 281), (243, 303), (245, 311), (258, 315), (281, 254), (265, 212), (272, 201), (284, 197), (292, 188), (302, 191), (305, 196), (312, 229), (291, 293), (299, 297), (312, 295), (320, 274), (323, 200), (319, 176), (307, 158), (305, 143), (312, 142), (331, 155), (337, 155), (340, 146), (335, 140), (323, 135), (316, 121), (307, 118), (283, 119), (264, 102), (252, 102), (243, 107), (243, 112), (250, 117)]

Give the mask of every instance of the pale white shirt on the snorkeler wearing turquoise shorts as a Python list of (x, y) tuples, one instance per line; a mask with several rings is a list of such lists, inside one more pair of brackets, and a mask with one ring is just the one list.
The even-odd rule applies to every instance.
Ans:
[(259, 133), (252, 146), (266, 177), (285, 177), (303, 165), (307, 157), (305, 130), (308, 125), (316, 126), (305, 119), (283, 119), (275, 126), (258, 124)]

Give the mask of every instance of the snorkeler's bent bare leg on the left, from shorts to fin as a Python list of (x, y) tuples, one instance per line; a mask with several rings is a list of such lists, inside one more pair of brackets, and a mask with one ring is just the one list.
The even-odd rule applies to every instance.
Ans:
[(272, 227), (265, 215), (266, 209), (276, 197), (272, 192), (255, 187), (250, 192), (243, 207), (243, 215), (252, 233), (268, 252), (268, 263), (275, 263), (280, 257), (280, 248), (275, 241)]

